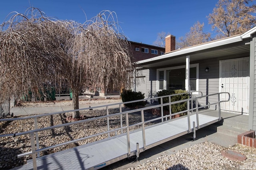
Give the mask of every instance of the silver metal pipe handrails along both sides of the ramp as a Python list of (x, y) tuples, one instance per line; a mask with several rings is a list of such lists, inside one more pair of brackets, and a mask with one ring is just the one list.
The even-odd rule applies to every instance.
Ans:
[[(191, 94), (191, 92), (186, 92), (186, 93), (182, 93), (182, 94)], [(220, 94), (228, 94), (228, 100), (221, 101), (220, 100)], [(85, 120), (80, 120), (80, 121), (76, 121), (76, 122), (70, 122), (70, 123), (65, 123), (65, 124), (60, 124), (60, 125), (54, 125), (54, 126), (50, 126), (50, 127), (44, 127), (44, 128), (41, 128), (41, 129), (37, 129), (37, 126), (35, 125), (36, 129), (34, 129), (34, 130), (25, 131), (25, 132), (21, 132), (21, 133), (12, 133), (12, 134), (0, 135), (0, 137), (7, 137), (7, 136), (17, 137), (17, 136), (21, 136), (21, 135), (30, 134), (30, 140), (31, 140), (31, 145), (32, 145), (31, 149), (32, 150), (30, 152), (19, 154), (18, 158), (26, 156), (26, 155), (29, 155), (29, 154), (32, 154), (34, 169), (37, 169), (37, 167), (36, 167), (36, 154), (37, 154), (37, 156), (39, 156), (39, 152), (42, 152), (42, 151), (45, 151), (45, 150), (49, 150), (49, 149), (53, 149), (53, 148), (56, 148), (56, 147), (60, 147), (60, 146), (63, 146), (63, 145), (67, 145), (67, 144), (70, 144), (70, 143), (74, 143), (74, 142), (90, 139), (92, 137), (97, 137), (99, 135), (108, 134), (108, 139), (110, 139), (110, 138), (112, 138), (112, 137), (110, 137), (110, 133), (115, 132), (115, 135), (114, 135), (114, 137), (115, 137), (116, 136), (116, 131), (121, 131), (120, 135), (126, 135), (126, 137), (127, 137), (127, 154), (128, 154), (128, 156), (130, 156), (130, 153), (131, 153), (131, 150), (130, 150), (130, 137), (129, 137), (129, 135), (130, 135), (129, 128), (130, 127), (138, 126), (138, 125), (142, 126), (140, 129), (142, 129), (143, 150), (145, 150), (146, 149), (145, 129), (147, 128), (147, 127), (145, 127), (146, 123), (150, 123), (152, 121), (156, 121), (156, 120), (160, 120), (160, 119), (161, 119), (161, 123), (164, 123), (164, 119), (165, 119), (165, 121), (167, 121), (168, 117), (170, 118), (169, 121), (173, 121), (174, 119), (172, 119), (172, 116), (178, 115), (180, 113), (187, 113), (185, 116), (187, 116), (187, 118), (188, 118), (188, 133), (190, 133), (192, 131), (192, 129), (190, 128), (190, 115), (196, 114), (197, 127), (199, 127), (198, 109), (204, 108), (206, 106), (218, 104), (219, 105), (219, 121), (220, 121), (222, 119), (221, 118), (221, 113), (220, 113), (220, 103), (221, 102), (228, 102), (230, 100), (230, 94), (228, 92), (222, 92), (222, 93), (216, 93), (216, 94), (208, 94), (208, 95), (205, 95), (205, 96), (201, 95), (201, 96), (198, 96), (198, 97), (195, 97), (195, 96), (191, 95), (191, 97), (188, 98), (188, 99), (179, 100), (179, 101), (175, 101), (175, 102), (170, 102), (171, 101), (170, 100), (171, 96), (175, 96), (175, 95), (181, 95), (181, 94), (174, 94), (174, 95), (167, 95), (167, 96), (160, 96), (160, 97), (155, 97), (155, 98), (144, 99), (144, 100), (152, 100), (152, 99), (160, 98), (161, 101), (162, 101), (162, 98), (168, 97), (169, 98), (169, 102), (165, 103), (165, 104), (162, 104), (162, 102), (161, 102), (161, 104), (158, 104), (158, 105), (143, 107), (143, 108), (134, 109), (134, 110), (123, 111), (123, 112), (122, 112), (121, 104), (128, 104), (128, 103), (144, 101), (144, 100), (136, 100), (136, 101), (132, 101), (132, 102), (123, 102), (123, 103), (118, 103), (118, 104), (107, 104), (107, 105), (104, 105), (104, 106), (88, 107), (88, 108), (84, 108), (84, 109), (71, 110), (71, 111), (78, 111), (78, 110), (96, 109), (98, 107), (106, 107), (107, 115), (103, 115), (103, 116), (100, 116), (100, 117), (94, 117), (94, 118), (90, 118), (90, 119), (85, 119)], [(218, 95), (218, 102), (214, 102), (212, 104), (206, 104), (204, 106), (198, 106), (198, 99), (209, 97), (209, 96), (214, 96), (214, 95)], [(190, 107), (190, 102), (192, 102), (193, 100), (196, 101), (196, 107), (194, 107), (194, 108), (192, 107), (191, 108)], [(171, 113), (171, 111), (170, 111), (170, 113), (168, 115), (163, 115), (163, 109), (162, 108), (164, 106), (169, 106), (169, 108), (171, 108), (172, 104), (178, 104), (178, 103), (182, 103), (182, 102), (187, 102), (187, 109), (186, 110), (180, 111), (178, 113)], [(120, 112), (119, 113), (114, 113), (114, 114), (108, 114), (108, 107), (109, 106), (113, 106), (113, 105), (119, 105)], [(146, 111), (148, 109), (159, 108), (159, 107), (161, 108), (161, 116), (160, 117), (157, 117), (157, 118), (151, 119), (151, 120), (147, 120), (147, 121), (144, 120), (144, 111)], [(128, 119), (128, 114), (135, 113), (137, 111), (140, 111), (141, 121), (139, 123), (135, 123), (135, 124), (130, 125), (129, 124), (129, 119)], [(193, 113), (193, 111), (195, 111), (195, 113)], [(56, 112), (56, 113), (48, 113), (48, 114), (44, 114), (44, 115), (31, 116), (31, 117), (34, 118), (35, 119), (35, 123), (37, 123), (37, 121), (36, 121), (37, 117), (45, 116), (45, 115), (52, 115), (52, 114), (66, 113), (66, 112), (70, 112), (70, 110), (69, 111)], [(126, 125), (125, 126), (122, 125), (122, 115), (126, 116), (126, 120), (125, 120)], [(116, 129), (110, 130), (109, 118), (110, 117), (114, 117), (114, 116), (120, 116), (120, 127), (116, 128)], [(25, 118), (29, 118), (29, 117), (25, 117)], [(107, 121), (107, 123), (108, 123), (108, 130), (104, 131), (102, 133), (97, 133), (97, 134), (94, 134), (94, 135), (90, 135), (90, 136), (83, 137), (83, 138), (80, 138), (80, 139), (68, 141), (68, 142), (65, 142), (65, 143), (60, 143), (58, 145), (53, 145), (53, 146), (50, 146), (50, 147), (44, 147), (44, 148), (41, 148), (41, 149), (39, 149), (39, 139), (38, 139), (38, 136), (36, 137), (36, 141), (34, 139), (34, 133), (36, 133), (36, 135), (37, 135), (38, 132), (42, 132), (42, 131), (46, 131), (46, 130), (50, 130), (50, 129), (55, 129), (55, 128), (59, 128), (59, 127), (66, 127), (66, 126), (75, 125), (75, 124), (78, 124), (78, 123), (85, 123), (85, 122), (89, 122), (89, 121), (95, 121), (95, 120), (106, 119), (106, 118), (108, 120)], [(12, 118), (12, 119), (2, 119), (1, 121), (4, 121), (4, 120), (5, 121), (20, 120), (20, 118), (16, 118), (16, 119), (15, 118)], [(123, 133), (123, 130), (126, 130), (125, 134)], [(104, 140), (104, 139), (102, 139), (102, 140)], [(100, 141), (96, 141), (96, 143), (97, 142), (102, 142), (102, 141), (101, 140)], [(37, 148), (35, 146), (37, 146)]]

